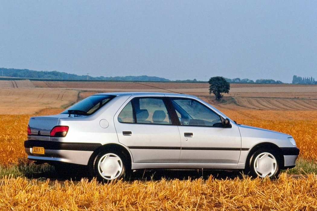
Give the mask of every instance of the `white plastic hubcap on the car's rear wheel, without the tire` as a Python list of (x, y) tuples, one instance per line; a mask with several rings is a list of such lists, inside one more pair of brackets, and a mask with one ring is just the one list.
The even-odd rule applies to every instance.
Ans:
[(98, 171), (107, 180), (118, 178), (123, 171), (121, 158), (112, 153), (105, 154), (98, 162)]

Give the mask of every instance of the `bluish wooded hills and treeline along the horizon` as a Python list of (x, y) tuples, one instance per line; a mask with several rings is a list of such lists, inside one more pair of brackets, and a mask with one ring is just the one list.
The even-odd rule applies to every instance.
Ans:
[[(0, 80), (8, 80), (10, 78), (16, 79), (30, 79), (30, 80), (103, 80), (103, 81), (153, 81), (153, 82), (203, 82), (206, 83), (207, 81), (197, 81), (194, 80), (169, 80), (166, 78), (160, 78), (156, 76), (116, 76), (116, 77), (92, 77), (89, 75), (76, 75), (76, 74), (69, 74), (64, 72), (57, 72), (57, 71), (35, 71), (35, 70), (28, 70), (28, 69), (8, 69), (8, 68), (0, 68)], [(7, 77), (7, 78), (6, 78)], [(212, 77), (212, 76), (210, 76)], [(282, 84), (282, 81), (275, 81), (272, 79), (258, 79), (256, 81), (249, 80), (249, 79), (240, 79), (234, 78), (229, 79), (225, 78), (229, 83), (260, 83), (260, 84)], [(294, 75), (293, 77), (293, 84), (317, 84), (315, 79), (311, 78), (301, 78)]]

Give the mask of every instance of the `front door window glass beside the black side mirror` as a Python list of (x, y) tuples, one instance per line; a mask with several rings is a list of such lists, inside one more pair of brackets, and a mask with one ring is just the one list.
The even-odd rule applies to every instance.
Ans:
[(220, 116), (193, 99), (172, 99), (181, 125), (220, 127)]

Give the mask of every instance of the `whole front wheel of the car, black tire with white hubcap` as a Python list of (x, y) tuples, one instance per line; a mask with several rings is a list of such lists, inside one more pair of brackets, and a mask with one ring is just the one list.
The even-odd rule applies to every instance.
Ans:
[(275, 151), (257, 150), (250, 158), (249, 170), (249, 175), (253, 177), (277, 178), (281, 169)]

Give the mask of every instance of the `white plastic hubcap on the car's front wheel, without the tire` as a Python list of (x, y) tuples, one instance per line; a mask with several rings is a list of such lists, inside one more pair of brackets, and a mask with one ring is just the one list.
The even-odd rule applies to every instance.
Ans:
[(263, 152), (259, 154), (254, 162), (254, 170), (260, 177), (272, 176), (275, 174), (277, 168), (277, 161), (275, 157), (268, 153)]

